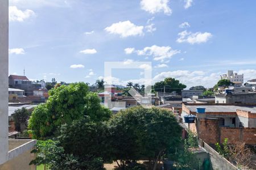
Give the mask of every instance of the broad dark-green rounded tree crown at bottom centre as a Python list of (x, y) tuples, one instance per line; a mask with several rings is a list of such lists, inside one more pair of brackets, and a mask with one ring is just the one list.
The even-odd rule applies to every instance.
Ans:
[(112, 155), (121, 166), (141, 158), (157, 165), (167, 148), (178, 145), (181, 131), (171, 112), (143, 107), (121, 110), (110, 119), (109, 127)]

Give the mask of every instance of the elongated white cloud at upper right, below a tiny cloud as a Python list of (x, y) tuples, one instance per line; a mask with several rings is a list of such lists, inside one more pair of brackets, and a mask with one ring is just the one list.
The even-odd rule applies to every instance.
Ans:
[(209, 32), (187, 32), (187, 30), (180, 32), (178, 34), (179, 38), (176, 40), (177, 42), (188, 42), (189, 44), (200, 44), (203, 42), (207, 42), (210, 37), (212, 37), (212, 34)]

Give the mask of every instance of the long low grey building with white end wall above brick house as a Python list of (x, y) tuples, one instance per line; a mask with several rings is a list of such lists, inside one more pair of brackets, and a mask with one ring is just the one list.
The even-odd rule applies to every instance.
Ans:
[(215, 103), (222, 104), (256, 104), (256, 92), (216, 95)]

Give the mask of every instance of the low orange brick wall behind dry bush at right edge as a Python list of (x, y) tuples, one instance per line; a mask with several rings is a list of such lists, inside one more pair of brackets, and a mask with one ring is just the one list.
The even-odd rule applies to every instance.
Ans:
[(248, 145), (256, 144), (256, 128), (220, 128), (220, 142), (223, 142), (225, 138), (229, 139), (229, 142), (234, 141), (245, 142)]

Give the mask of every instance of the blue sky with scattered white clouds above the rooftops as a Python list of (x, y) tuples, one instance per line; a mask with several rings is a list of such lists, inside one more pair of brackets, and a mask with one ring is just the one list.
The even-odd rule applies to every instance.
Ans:
[[(256, 1), (10, 0), (9, 74), (89, 82), (105, 62), (151, 62), (113, 69), (115, 84), (172, 77), (213, 87), (227, 70), (256, 78)], [(108, 78), (105, 77), (105, 80)]]

